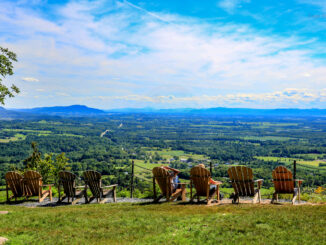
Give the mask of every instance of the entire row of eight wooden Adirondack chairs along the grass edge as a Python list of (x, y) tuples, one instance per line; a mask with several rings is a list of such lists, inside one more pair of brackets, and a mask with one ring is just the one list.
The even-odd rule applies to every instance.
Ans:
[[(158, 202), (162, 197), (167, 201), (173, 201), (177, 198), (186, 200), (186, 184), (180, 183), (179, 188), (174, 188), (171, 174), (163, 167), (155, 167), (153, 169), (153, 190), (154, 202)], [(240, 201), (240, 197), (253, 197), (253, 202), (256, 203), (257, 199), (261, 202), (260, 189), (263, 180), (254, 180), (253, 171), (251, 168), (245, 166), (233, 166), (228, 169), (230, 182), (234, 188), (232, 194), (232, 202)], [(284, 166), (278, 166), (272, 173), (275, 192), (273, 194), (272, 203), (278, 200), (279, 194), (293, 194), (292, 203), (294, 204), (296, 198), (300, 202), (300, 186), (302, 180), (293, 179), (292, 172)], [(85, 171), (83, 173), (85, 181), (84, 186), (77, 186), (77, 176), (71, 172), (61, 171), (59, 173), (59, 199), (58, 202), (67, 199), (72, 204), (77, 203), (82, 197), (85, 198), (85, 203), (90, 203), (94, 199), (99, 203), (105, 203), (110, 195), (113, 196), (113, 201), (116, 202), (116, 187), (117, 185), (102, 186), (102, 176), (96, 171)], [(5, 175), (6, 179), (6, 193), (7, 202), (13, 198), (17, 200), (19, 197), (37, 196), (39, 202), (42, 202), (46, 197), (52, 201), (52, 185), (44, 185), (42, 176), (36, 171), (27, 171), (24, 175), (18, 172), (10, 171)], [(197, 198), (206, 197), (207, 204), (220, 203), (220, 190), (219, 186), (222, 182), (218, 182), (216, 188), (212, 191), (210, 188), (211, 173), (209, 170), (196, 166), (190, 170), (190, 201), (193, 202)], [(297, 182), (297, 188), (295, 188)], [(156, 183), (159, 185), (161, 195), (156, 195)], [(257, 187), (255, 187), (257, 183)], [(48, 187), (47, 190), (44, 187)], [(61, 196), (61, 188), (63, 188), (64, 195)], [(193, 194), (193, 188), (196, 190)], [(88, 198), (87, 190), (90, 190), (92, 196)], [(9, 190), (12, 195), (9, 196)], [(214, 199), (216, 196), (216, 199)]]

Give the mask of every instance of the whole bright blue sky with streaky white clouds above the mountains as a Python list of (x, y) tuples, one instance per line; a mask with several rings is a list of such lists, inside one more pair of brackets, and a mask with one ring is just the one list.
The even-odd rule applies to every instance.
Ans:
[(325, 0), (0, 6), (9, 108), (326, 108)]

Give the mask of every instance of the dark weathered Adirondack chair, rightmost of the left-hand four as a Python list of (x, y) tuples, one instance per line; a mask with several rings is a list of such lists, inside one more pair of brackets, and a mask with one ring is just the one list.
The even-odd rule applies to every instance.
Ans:
[(112, 193), (113, 201), (117, 201), (116, 187), (118, 185), (102, 186), (102, 175), (96, 171), (85, 171), (83, 173), (85, 180), (85, 191), (87, 192), (87, 186), (92, 192), (91, 198), (88, 200), (87, 194), (85, 196), (85, 202), (90, 203), (95, 198), (99, 203), (105, 203), (108, 200), (108, 196)]

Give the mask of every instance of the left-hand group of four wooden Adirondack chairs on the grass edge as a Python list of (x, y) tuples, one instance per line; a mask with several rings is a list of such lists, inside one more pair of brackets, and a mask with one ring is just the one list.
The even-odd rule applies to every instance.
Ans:
[[(77, 176), (71, 172), (61, 171), (59, 172), (59, 199), (58, 202), (62, 202), (67, 199), (72, 204), (77, 203), (82, 197), (85, 198), (85, 203), (90, 203), (94, 199), (99, 203), (107, 201), (109, 195), (113, 196), (113, 201), (116, 202), (116, 187), (117, 185), (102, 186), (102, 176), (96, 171), (85, 171), (83, 173), (85, 185), (77, 186)], [(26, 171), (23, 175), (15, 171), (7, 172), (6, 179), (6, 194), (7, 202), (12, 199), (17, 201), (17, 198), (30, 198), (38, 197), (38, 201), (42, 202), (46, 197), (52, 201), (52, 185), (44, 185), (42, 176), (36, 171)], [(44, 187), (48, 187), (45, 190)], [(61, 190), (63, 188), (64, 195), (61, 196)], [(87, 190), (90, 190), (92, 196), (88, 198)], [(9, 190), (12, 195), (9, 196)]]

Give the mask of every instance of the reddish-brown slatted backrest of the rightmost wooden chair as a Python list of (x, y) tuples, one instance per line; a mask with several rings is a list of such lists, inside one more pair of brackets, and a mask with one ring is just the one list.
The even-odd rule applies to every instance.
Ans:
[(273, 183), (276, 193), (293, 193), (294, 180), (292, 172), (284, 166), (278, 166), (274, 169)]

